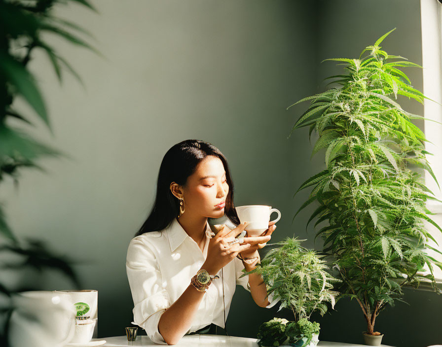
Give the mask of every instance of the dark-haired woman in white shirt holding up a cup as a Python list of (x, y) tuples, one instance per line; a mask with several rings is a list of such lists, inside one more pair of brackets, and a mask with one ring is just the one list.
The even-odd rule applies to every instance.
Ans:
[[(215, 235), (207, 218), (224, 213), (237, 227)], [(201, 140), (174, 145), (161, 162), (150, 215), (127, 251), (134, 323), (154, 343), (175, 345), (208, 325), (224, 328), (236, 284), (250, 291), (258, 306), (274, 306), (278, 301), (266, 298), (261, 275), (239, 278), (259, 262), (258, 249), (271, 239), (273, 224), (239, 243), (235, 237), (246, 224), (239, 223), (233, 207), (225, 157)]]

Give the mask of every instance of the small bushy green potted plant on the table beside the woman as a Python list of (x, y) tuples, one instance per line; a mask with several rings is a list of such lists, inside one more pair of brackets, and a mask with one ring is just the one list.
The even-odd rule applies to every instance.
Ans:
[(278, 310), (288, 308), (294, 314), (294, 320), (273, 318), (259, 327), (260, 346), (316, 346), (319, 336), (319, 323), (310, 322), (310, 315), (319, 311), (327, 312), (327, 303), (334, 308), (335, 297), (332, 281), (340, 281), (332, 277), (329, 267), (321, 260), (321, 255), (313, 249), (300, 245), (297, 238), (286, 238), (274, 243), (279, 247), (271, 249), (252, 271), (262, 275), (268, 286), (267, 296), (272, 294), (279, 298), (281, 305)]

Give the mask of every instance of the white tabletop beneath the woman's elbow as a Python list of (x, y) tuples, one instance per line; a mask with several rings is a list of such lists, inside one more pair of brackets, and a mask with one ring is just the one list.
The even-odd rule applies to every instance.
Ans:
[[(362, 337), (361, 337), (362, 339)], [(92, 341), (106, 340), (104, 347), (121, 347), (121, 346), (161, 346), (154, 344), (147, 336), (137, 336), (136, 341), (127, 341), (127, 337), (113, 336), (103, 339), (92, 339)], [(247, 337), (223, 336), (223, 335), (185, 335), (180, 342), (174, 346), (192, 346), (192, 347), (258, 347), (258, 339)], [(162, 345), (167, 346), (167, 345)], [(367, 347), (366, 345), (344, 344), (342, 342), (319, 341), (318, 347)], [(389, 347), (381, 345), (381, 347)]]

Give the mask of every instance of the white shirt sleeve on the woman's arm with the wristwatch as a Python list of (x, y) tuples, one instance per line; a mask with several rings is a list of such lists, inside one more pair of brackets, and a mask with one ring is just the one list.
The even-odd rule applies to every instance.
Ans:
[(158, 332), (158, 322), (171, 306), (170, 298), (163, 288), (154, 252), (140, 239), (134, 238), (129, 244), (126, 272), (134, 300), (134, 323), (146, 330), (153, 343), (167, 345)]

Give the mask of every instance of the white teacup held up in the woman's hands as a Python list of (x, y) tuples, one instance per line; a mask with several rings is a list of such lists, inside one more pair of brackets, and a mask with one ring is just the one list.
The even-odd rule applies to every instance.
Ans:
[(270, 215), (273, 212), (278, 213), (278, 217), (274, 220), (276, 223), (281, 219), (281, 212), (266, 205), (246, 205), (235, 208), (241, 223), (249, 222), (245, 230), (248, 236), (259, 236), (268, 229)]

